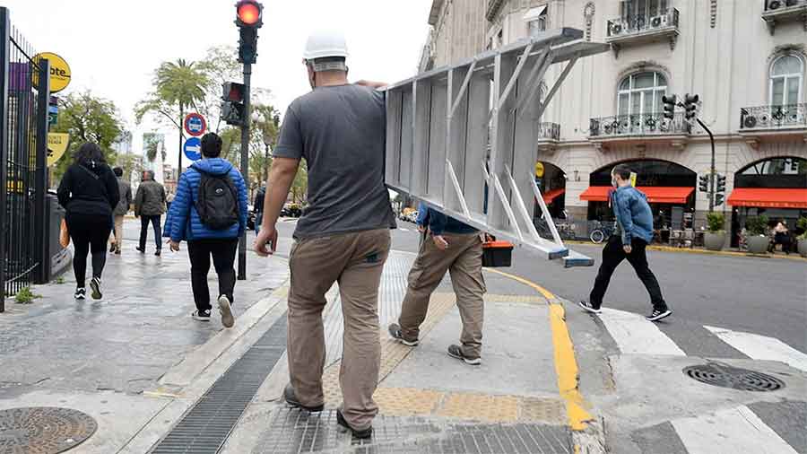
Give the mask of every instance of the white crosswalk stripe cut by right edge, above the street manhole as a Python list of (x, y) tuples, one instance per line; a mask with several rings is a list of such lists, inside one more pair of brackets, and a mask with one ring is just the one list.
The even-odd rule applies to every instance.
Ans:
[(807, 371), (807, 354), (799, 352), (776, 337), (759, 336), (722, 327), (705, 326), (705, 328), (751, 359), (785, 362), (791, 367)]

